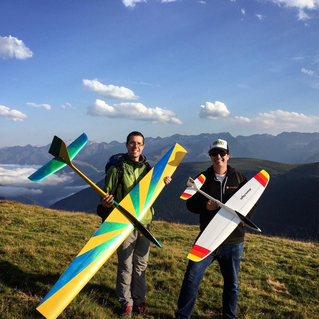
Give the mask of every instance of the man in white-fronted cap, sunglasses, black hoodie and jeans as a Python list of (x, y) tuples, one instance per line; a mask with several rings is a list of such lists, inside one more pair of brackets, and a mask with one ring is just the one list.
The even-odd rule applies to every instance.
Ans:
[[(208, 154), (211, 157), (212, 165), (206, 171), (200, 173), (206, 177), (201, 189), (211, 197), (226, 203), (239, 188), (247, 183), (247, 179), (240, 172), (227, 165), (230, 155), (228, 144), (225, 140), (218, 139), (213, 141)], [(197, 236), (198, 238), (216, 215), (219, 206), (211, 200), (207, 200), (200, 193), (190, 197), (186, 205), (189, 211), (199, 214), (200, 233)], [(246, 217), (251, 219), (255, 211), (256, 205)], [(190, 318), (204, 272), (215, 259), (219, 263), (220, 272), (224, 278), (222, 318), (236, 317), (239, 295), (237, 278), (243, 247), (244, 227), (239, 224), (209, 256), (199, 262), (189, 260), (177, 302), (178, 311), (175, 314), (175, 319)]]

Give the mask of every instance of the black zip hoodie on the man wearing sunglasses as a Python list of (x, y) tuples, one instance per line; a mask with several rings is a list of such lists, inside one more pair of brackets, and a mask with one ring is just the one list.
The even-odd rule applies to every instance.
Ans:
[[(247, 183), (247, 178), (242, 175), (243, 182), (238, 184), (235, 169), (227, 165), (227, 173), (223, 180), (220, 182), (215, 175), (213, 166), (209, 167), (206, 171), (200, 173), (206, 177), (206, 180), (201, 187), (206, 194), (218, 199), (225, 204), (234, 193)], [(200, 175), (198, 174), (197, 177)], [(200, 193), (196, 193), (186, 201), (187, 209), (195, 214), (199, 214), (199, 229), (201, 232), (206, 228), (211, 219), (216, 215), (219, 209), (214, 211), (208, 211), (206, 209), (206, 203), (208, 199)], [(246, 215), (248, 219), (252, 219), (256, 211), (256, 204)], [(244, 227), (237, 226), (234, 231), (226, 238), (222, 245), (228, 245), (244, 241)]]

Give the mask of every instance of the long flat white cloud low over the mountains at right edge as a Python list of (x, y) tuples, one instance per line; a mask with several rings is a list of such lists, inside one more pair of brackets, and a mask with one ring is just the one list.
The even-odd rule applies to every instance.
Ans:
[(302, 113), (288, 112), (282, 110), (270, 111), (269, 113), (259, 113), (255, 118), (234, 116), (233, 121), (243, 124), (252, 124), (260, 128), (274, 129), (298, 129), (303, 126), (316, 126), (318, 116), (308, 116)]

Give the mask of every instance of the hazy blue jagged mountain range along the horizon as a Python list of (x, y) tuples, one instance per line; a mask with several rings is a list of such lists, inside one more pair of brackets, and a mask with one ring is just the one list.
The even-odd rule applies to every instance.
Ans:
[[(115, 137), (114, 137), (115, 138)], [(146, 137), (143, 154), (149, 162), (157, 162), (161, 155), (176, 142), (182, 145), (187, 154), (183, 162), (198, 162), (209, 160), (208, 148), (212, 140), (222, 138), (228, 142), (231, 157), (248, 157), (268, 159), (279, 163), (311, 163), (319, 161), (319, 133), (283, 132), (277, 136), (270, 134), (255, 134), (250, 136), (233, 137), (225, 133), (202, 133), (199, 135), (179, 135), (170, 137)], [(275, 147), (274, 147), (275, 145)], [(12, 146), (0, 148), (1, 164), (43, 165), (52, 157), (48, 154), (47, 146)], [(126, 150), (125, 143), (112, 141), (110, 143), (96, 143), (89, 141), (76, 160), (87, 169), (91, 167), (103, 171), (105, 162), (113, 155)]]

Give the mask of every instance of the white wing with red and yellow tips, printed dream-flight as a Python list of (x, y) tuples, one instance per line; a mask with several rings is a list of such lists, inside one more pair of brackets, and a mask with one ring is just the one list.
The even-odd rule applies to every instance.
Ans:
[[(263, 193), (269, 174), (262, 170), (241, 187), (225, 205), (246, 216)], [(197, 239), (187, 258), (200, 261), (214, 251), (233, 232), (241, 220), (221, 208)]]

